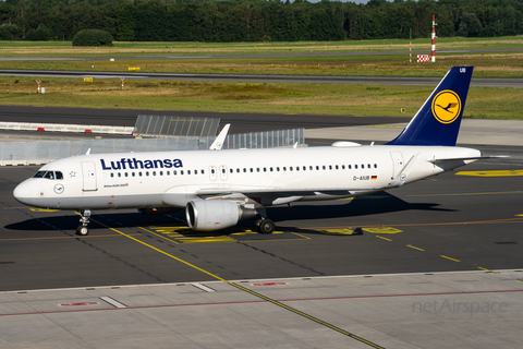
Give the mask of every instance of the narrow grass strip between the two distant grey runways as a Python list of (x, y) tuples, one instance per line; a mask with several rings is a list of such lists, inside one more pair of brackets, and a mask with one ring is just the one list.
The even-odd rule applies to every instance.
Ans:
[[(281, 75), (367, 75), (443, 76), (455, 65), (474, 65), (474, 76), (523, 77), (523, 52), (440, 55), (436, 63), (409, 63), (408, 56), (297, 57), (236, 59), (117, 59), (74, 61), (0, 61), (0, 69), (64, 70), (83, 72), (142, 72), (190, 74), (281, 74)], [(94, 68), (93, 68), (94, 67)]]

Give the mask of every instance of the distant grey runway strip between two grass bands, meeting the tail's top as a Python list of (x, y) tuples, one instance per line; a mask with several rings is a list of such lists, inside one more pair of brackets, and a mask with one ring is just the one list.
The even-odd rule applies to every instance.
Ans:
[[(95, 77), (132, 80), (175, 80), (175, 81), (226, 81), (254, 83), (295, 83), (295, 84), (370, 84), (370, 85), (411, 85), (437, 86), (441, 77), (402, 77), (402, 76), (325, 76), (325, 75), (246, 75), (246, 74), (178, 74), (178, 73), (130, 73), (92, 71), (48, 71), (48, 70), (0, 70), (8, 76), (47, 76), (47, 77)], [(471, 86), (476, 87), (523, 87), (522, 77), (473, 77)]]

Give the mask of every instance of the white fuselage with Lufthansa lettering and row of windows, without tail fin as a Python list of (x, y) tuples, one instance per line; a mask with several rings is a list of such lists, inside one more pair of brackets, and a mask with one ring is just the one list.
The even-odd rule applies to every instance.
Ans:
[[(387, 145), (90, 154), (47, 164), (40, 171), (59, 171), (62, 179), (29, 178), (14, 196), (37, 207), (110, 209), (184, 207), (243, 193), (270, 206), (400, 186), (477, 156), (472, 148)], [(430, 163), (437, 158), (457, 160)]]

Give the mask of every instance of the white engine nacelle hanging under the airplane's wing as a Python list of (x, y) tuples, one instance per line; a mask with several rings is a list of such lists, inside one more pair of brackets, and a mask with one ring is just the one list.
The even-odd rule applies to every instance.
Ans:
[(234, 227), (239, 220), (254, 218), (256, 210), (230, 200), (193, 200), (187, 203), (185, 217), (191, 229), (212, 231)]

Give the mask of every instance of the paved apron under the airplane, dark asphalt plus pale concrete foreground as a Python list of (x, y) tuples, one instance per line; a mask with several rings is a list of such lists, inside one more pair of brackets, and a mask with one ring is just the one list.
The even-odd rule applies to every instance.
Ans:
[[(472, 146), (510, 157), (353, 200), (271, 207), (271, 236), (252, 221), (199, 233), (182, 212), (108, 210), (81, 238), (74, 213), (12, 197), (37, 167), (0, 168), (0, 346), (515, 348), (523, 155)], [(416, 308), (434, 302), (489, 311)]]

